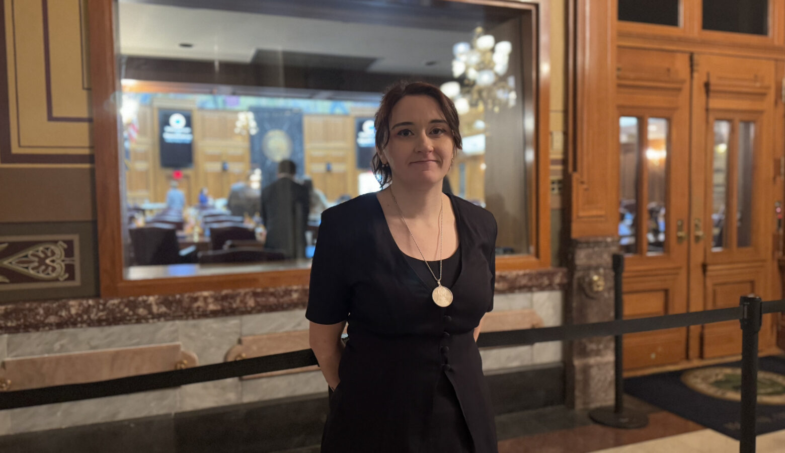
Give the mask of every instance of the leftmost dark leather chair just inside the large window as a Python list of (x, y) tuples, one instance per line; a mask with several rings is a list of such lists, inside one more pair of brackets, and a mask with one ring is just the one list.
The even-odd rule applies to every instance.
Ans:
[(196, 247), (180, 250), (177, 231), (169, 224), (129, 228), (135, 265), (176, 265), (195, 262)]

